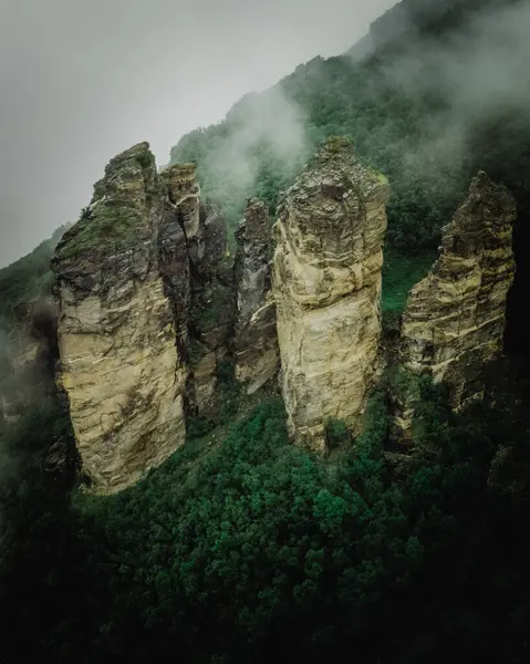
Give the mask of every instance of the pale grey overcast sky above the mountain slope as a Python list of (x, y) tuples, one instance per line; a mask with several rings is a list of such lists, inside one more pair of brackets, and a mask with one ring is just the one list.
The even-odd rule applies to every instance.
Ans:
[(345, 51), (395, 0), (0, 0), (0, 266), (77, 218), (108, 159)]

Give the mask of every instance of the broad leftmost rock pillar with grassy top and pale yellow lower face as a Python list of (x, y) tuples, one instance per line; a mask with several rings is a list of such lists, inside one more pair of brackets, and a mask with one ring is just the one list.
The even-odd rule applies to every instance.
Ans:
[[(84, 474), (100, 492), (133, 484), (184, 443), (186, 370), (157, 247), (163, 194), (148, 144), (114, 157), (52, 263), (59, 378)], [(167, 243), (172, 229), (162, 232)]]

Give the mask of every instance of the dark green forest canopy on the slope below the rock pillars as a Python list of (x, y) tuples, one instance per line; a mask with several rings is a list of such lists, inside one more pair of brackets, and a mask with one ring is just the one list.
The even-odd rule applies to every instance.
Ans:
[[(3, 558), (4, 661), (165, 661), (177, 650), (198, 663), (279, 651), (315, 663), (352, 652), (366, 664), (524, 661), (530, 476), (512, 463), (530, 458), (524, 385), (456, 417), (423, 382), (424, 444), (398, 474), (383, 454), (383, 393), (354, 448), (329, 461), (289, 444), (274, 397), (220, 445), (190, 440), (118, 496), (76, 495), (67, 508), (38, 475), (15, 483), (19, 466), (3, 492), (17, 537), (25, 528), (24, 554)], [(37, 473), (51, 424), (18, 429), (33, 440), (24, 474)]]

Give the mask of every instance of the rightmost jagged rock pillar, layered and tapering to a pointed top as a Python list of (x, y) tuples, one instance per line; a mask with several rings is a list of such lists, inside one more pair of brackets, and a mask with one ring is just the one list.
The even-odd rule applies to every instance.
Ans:
[[(506, 299), (516, 270), (511, 229), (516, 201), (485, 173), (444, 227), (440, 255), (429, 274), (411, 291), (403, 314), (401, 366), (450, 386), (459, 409), (484, 395), (484, 366), (502, 349)], [(396, 425), (411, 435), (414, 395), (398, 400)]]

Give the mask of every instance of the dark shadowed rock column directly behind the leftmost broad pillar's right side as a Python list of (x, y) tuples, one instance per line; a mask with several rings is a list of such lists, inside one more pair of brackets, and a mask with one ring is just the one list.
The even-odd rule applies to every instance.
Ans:
[(227, 353), (231, 322), (226, 221), (217, 208), (200, 200), (195, 164), (170, 166), (163, 178), (168, 214), (160, 256), (189, 369), (186, 407), (190, 415), (211, 415), (218, 406), (217, 367)]

